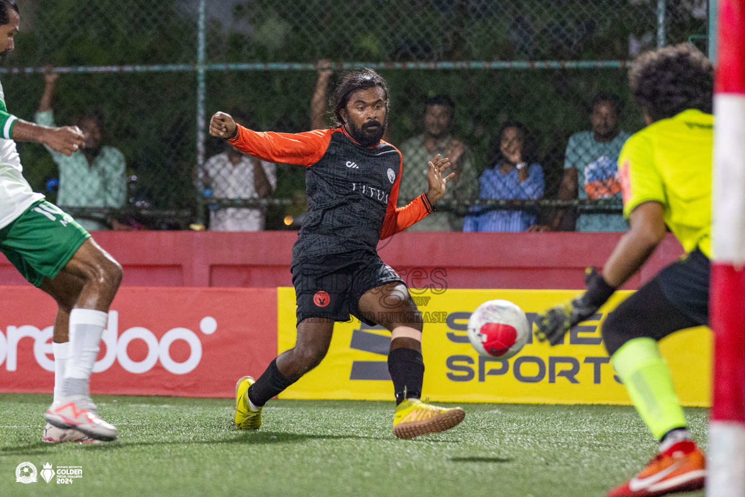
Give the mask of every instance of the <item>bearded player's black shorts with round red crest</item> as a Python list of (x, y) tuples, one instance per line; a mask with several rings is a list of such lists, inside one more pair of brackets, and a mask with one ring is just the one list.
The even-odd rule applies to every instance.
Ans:
[(390, 282), (401, 282), (398, 273), (368, 250), (321, 256), (293, 265), (292, 284), (297, 299), (297, 323), (308, 317), (349, 321), (349, 314), (370, 326), (362, 317), (362, 295)]

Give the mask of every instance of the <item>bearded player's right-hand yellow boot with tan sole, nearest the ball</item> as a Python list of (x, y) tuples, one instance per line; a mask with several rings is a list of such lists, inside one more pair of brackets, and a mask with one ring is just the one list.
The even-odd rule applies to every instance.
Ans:
[(461, 408), (440, 408), (420, 400), (405, 400), (396, 407), (393, 434), (413, 438), (428, 433), (440, 433), (454, 427), (466, 417)]

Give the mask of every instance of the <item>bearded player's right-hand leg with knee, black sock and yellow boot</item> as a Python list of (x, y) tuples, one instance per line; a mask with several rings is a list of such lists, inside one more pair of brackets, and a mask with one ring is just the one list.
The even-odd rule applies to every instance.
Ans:
[(393, 434), (413, 438), (453, 428), (466, 417), (461, 408), (425, 404), (422, 396), (422, 313), (401, 282), (367, 291), (359, 302), (364, 317), (390, 330), (388, 371), (396, 393)]

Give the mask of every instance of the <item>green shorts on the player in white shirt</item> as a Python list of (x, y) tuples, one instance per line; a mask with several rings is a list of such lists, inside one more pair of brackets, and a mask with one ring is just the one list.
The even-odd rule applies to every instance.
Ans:
[(89, 232), (69, 214), (39, 200), (0, 229), (0, 252), (39, 287), (45, 277), (54, 279), (88, 238)]

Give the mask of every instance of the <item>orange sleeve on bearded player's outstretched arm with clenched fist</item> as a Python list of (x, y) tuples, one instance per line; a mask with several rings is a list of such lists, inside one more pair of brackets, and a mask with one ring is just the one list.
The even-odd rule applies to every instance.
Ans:
[(238, 133), (228, 143), (239, 151), (267, 162), (314, 165), (326, 149), (335, 130), (305, 133), (272, 133), (249, 130), (238, 124)]

